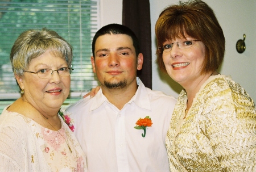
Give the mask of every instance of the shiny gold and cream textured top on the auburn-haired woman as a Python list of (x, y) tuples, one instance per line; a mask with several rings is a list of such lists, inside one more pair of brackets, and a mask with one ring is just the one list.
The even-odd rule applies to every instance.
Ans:
[(211, 76), (185, 119), (181, 91), (166, 137), (170, 170), (256, 171), (256, 110), (253, 99), (231, 78)]

